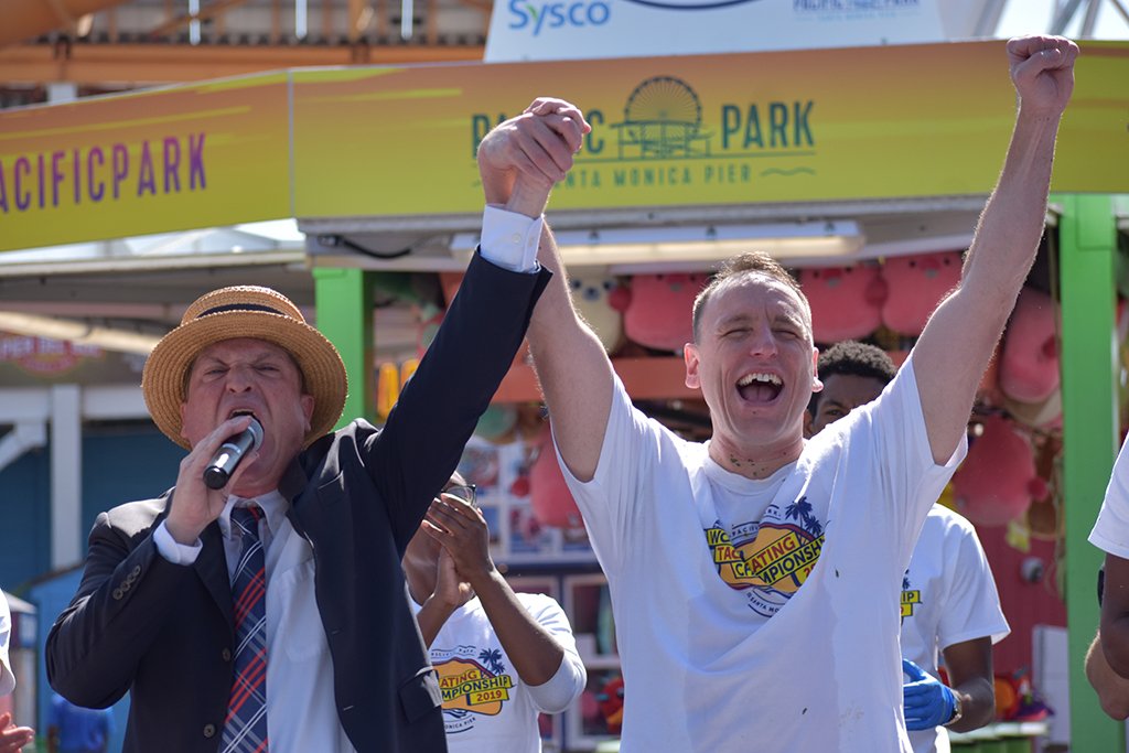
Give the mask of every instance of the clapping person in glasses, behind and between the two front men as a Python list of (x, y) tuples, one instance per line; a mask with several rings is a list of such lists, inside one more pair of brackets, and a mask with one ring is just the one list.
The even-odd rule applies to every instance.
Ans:
[(408, 589), (439, 674), (447, 747), (540, 751), (537, 713), (559, 713), (587, 673), (564, 611), (519, 594), (490, 558), (474, 485), (455, 474), (404, 552)]

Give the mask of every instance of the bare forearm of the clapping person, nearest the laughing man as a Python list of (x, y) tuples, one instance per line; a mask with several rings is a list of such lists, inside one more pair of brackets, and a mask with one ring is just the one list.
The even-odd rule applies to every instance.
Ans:
[(561, 666), (564, 649), (517, 599), (496, 569), (471, 581), (498, 642), (526, 685), (549, 682)]

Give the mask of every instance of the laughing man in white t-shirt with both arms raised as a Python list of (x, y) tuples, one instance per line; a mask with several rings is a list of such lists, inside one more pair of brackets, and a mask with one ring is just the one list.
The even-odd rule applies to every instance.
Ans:
[[(539, 301), (530, 345), (615, 613), (623, 753), (910, 750), (902, 575), (1039, 246), (1077, 46), (1025, 37), (1007, 55), (1018, 114), (960, 286), (883, 395), (811, 441), (811, 308), (768, 256), (732, 260), (694, 304), (685, 380), (706, 444), (633, 409), (563, 274)], [(483, 248), (540, 238), (561, 269), (542, 213), (589, 130), (540, 98), (485, 137)]]

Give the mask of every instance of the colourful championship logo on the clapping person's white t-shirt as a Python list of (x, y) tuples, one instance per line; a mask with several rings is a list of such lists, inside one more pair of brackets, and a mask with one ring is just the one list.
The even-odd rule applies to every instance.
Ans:
[(443, 692), (443, 712), (450, 723), (464, 720), (460, 730), (473, 724), (469, 715), (497, 716), (502, 702), (509, 700), (514, 678), (506, 674), (501, 651), (483, 648), (475, 656), (475, 647), (460, 646), (454, 651), (445, 651), (449, 658), (439, 659), (432, 653), (432, 664), (439, 675)]

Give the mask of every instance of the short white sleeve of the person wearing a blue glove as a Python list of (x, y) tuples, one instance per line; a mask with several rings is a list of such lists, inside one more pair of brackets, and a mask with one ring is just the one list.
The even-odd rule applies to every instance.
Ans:
[[(954, 520), (945, 532), (948, 588), (937, 625), (942, 650), (978, 638), (997, 643), (1012, 631), (999, 608), (999, 594), (988, 558), (972, 524)], [(951, 542), (951, 543), (949, 543)]]

